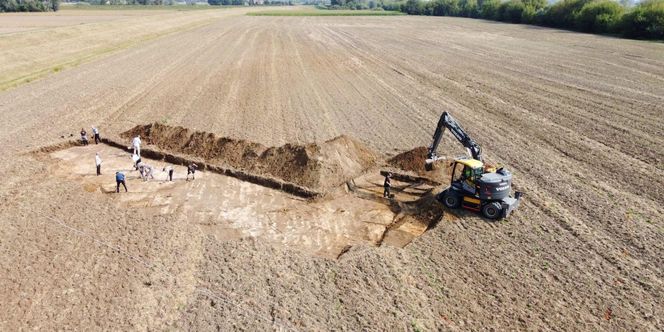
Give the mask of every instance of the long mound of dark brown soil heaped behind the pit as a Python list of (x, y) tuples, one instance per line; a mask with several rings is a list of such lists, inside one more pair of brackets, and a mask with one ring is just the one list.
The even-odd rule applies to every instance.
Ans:
[(161, 150), (272, 176), (316, 191), (337, 187), (359, 176), (377, 160), (372, 150), (348, 136), (321, 144), (266, 147), (159, 123), (136, 126), (122, 134), (125, 138), (136, 135)]

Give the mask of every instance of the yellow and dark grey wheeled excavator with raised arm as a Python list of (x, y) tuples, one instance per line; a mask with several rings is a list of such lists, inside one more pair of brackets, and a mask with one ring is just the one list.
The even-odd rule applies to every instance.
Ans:
[(436, 199), (448, 208), (459, 207), (480, 212), (488, 219), (502, 219), (519, 206), (521, 192), (510, 195), (512, 173), (503, 167), (486, 165), (482, 159), (482, 148), (461, 128), (447, 112), (438, 120), (433, 142), (429, 146), (425, 169), (430, 171), (433, 164), (441, 159), (436, 155), (445, 129), (467, 149), (471, 158), (456, 158), (453, 162), (450, 186), (436, 195)]

